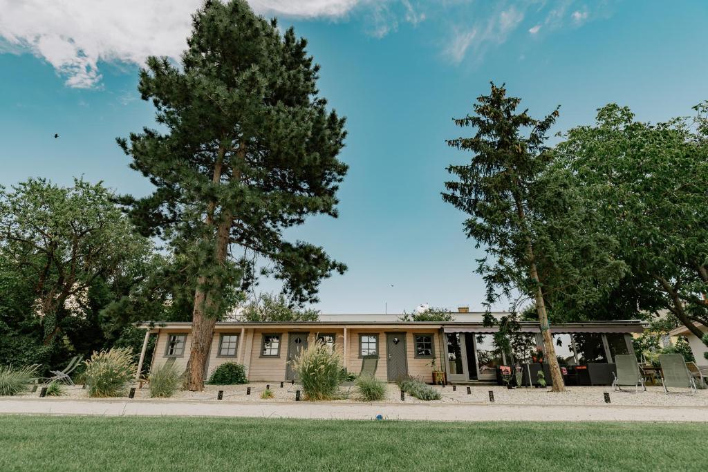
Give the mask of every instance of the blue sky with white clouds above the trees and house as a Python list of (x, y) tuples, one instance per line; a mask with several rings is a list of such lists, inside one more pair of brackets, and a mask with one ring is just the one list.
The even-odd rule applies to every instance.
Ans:
[[(484, 251), (440, 192), (445, 167), (470, 159), (445, 144), (472, 134), (452, 118), (471, 113), (489, 81), (506, 83), (534, 116), (561, 105), (554, 132), (592, 123), (606, 103), (656, 122), (708, 99), (702, 0), (249, 3), (309, 40), (321, 96), (348, 120), (340, 216), (289, 234), (348, 265), (321, 284), (323, 313), (482, 309), (474, 270)], [(199, 5), (0, 0), (0, 185), (83, 176), (150, 192), (115, 138), (154, 125), (137, 93), (139, 67), (152, 54), (178, 60)]]

